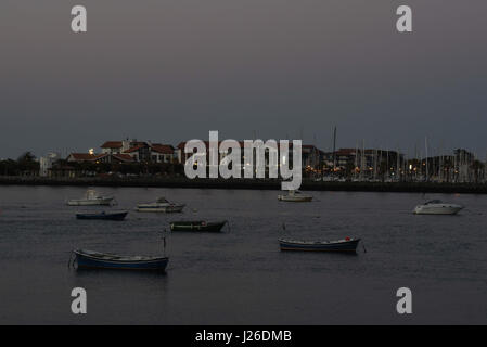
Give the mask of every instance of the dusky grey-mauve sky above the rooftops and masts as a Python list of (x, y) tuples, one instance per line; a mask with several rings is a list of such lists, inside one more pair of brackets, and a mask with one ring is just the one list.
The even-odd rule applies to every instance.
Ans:
[[(71, 31), (71, 8), (88, 33)], [(413, 9), (412, 34), (395, 9)], [(137, 138), (487, 153), (485, 0), (2, 0), (0, 158)], [(433, 151), (431, 149), (431, 151)]]

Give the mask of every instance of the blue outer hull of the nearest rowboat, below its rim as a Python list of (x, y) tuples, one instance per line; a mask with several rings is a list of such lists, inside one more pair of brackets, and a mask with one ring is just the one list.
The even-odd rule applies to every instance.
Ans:
[[(82, 250), (75, 250), (78, 269), (114, 269), (114, 270), (149, 270), (165, 271), (169, 258), (146, 258), (143, 260), (107, 260), (97, 256), (85, 254)], [(123, 258), (123, 257), (120, 257)]]

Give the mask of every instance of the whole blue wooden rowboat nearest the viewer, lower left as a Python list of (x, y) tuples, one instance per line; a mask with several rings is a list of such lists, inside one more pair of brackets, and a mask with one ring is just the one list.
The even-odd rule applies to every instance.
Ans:
[(164, 271), (169, 262), (167, 257), (118, 256), (92, 250), (77, 249), (75, 264), (78, 269), (118, 269)]

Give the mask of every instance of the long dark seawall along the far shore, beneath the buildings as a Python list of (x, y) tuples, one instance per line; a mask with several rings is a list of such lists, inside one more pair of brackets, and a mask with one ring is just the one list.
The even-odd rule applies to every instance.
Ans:
[[(0, 185), (144, 187), (189, 189), (281, 190), (279, 180), (187, 178), (42, 178), (0, 177)], [(487, 184), (418, 182), (316, 182), (304, 180), (302, 190), (394, 193), (487, 194)]]

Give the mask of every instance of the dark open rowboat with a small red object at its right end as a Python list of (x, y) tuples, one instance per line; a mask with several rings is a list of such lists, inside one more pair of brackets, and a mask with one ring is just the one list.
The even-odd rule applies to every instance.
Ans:
[(337, 241), (296, 241), (279, 240), (281, 250), (313, 250), (313, 252), (356, 252), (360, 239), (337, 240)]

